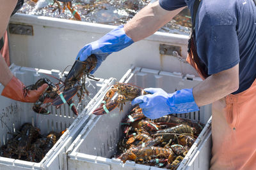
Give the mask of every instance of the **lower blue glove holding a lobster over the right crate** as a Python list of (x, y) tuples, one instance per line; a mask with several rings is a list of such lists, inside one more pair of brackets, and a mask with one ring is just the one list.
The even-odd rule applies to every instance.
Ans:
[(132, 105), (139, 104), (143, 114), (151, 119), (163, 117), (172, 113), (188, 113), (198, 111), (192, 89), (182, 89), (172, 94), (160, 88), (144, 89), (150, 93), (136, 97)]

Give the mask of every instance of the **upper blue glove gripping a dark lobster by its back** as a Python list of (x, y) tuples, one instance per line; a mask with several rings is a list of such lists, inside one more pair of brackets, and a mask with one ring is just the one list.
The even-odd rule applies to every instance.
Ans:
[(124, 25), (120, 25), (97, 41), (85, 45), (77, 54), (76, 59), (84, 61), (88, 56), (95, 54), (98, 62), (95, 69), (91, 71), (93, 74), (109, 54), (118, 52), (132, 43), (134, 43), (132, 39), (124, 32)]

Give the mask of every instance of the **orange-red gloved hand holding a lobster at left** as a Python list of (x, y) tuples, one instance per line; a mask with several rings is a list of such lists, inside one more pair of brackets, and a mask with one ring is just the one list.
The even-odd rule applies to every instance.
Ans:
[(4, 87), (1, 95), (15, 101), (35, 103), (45, 92), (47, 87), (48, 85), (45, 83), (36, 90), (26, 90), (24, 89), (25, 85), (18, 78), (13, 76), (10, 82)]

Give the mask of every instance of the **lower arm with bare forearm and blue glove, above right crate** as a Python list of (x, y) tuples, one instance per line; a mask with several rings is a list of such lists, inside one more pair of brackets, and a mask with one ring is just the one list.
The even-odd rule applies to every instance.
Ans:
[(151, 94), (136, 97), (132, 104), (139, 104), (146, 117), (155, 119), (172, 113), (198, 111), (198, 107), (218, 101), (238, 87), (239, 64), (212, 74), (193, 89), (182, 89), (172, 94), (163, 89), (144, 89)]

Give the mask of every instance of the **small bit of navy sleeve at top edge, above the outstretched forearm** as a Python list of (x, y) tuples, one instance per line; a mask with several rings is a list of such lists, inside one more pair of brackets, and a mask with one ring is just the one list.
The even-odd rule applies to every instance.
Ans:
[(159, 0), (160, 6), (164, 10), (172, 11), (186, 6), (185, 0)]

